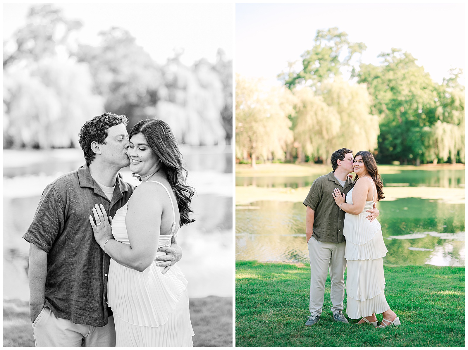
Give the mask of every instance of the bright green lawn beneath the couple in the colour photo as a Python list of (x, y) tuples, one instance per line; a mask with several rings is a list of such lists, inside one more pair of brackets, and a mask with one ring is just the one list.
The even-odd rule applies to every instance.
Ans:
[(307, 327), (308, 265), (236, 262), (236, 346), (465, 346), (464, 267), (384, 270), (385, 295), (400, 326), (380, 329), (358, 325), (358, 320), (333, 321), (328, 277), (320, 321)]

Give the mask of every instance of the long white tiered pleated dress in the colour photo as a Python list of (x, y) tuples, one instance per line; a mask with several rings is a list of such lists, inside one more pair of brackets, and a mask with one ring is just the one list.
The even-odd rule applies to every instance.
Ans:
[[(346, 195), (346, 203), (353, 203), (352, 189)], [(353, 320), (371, 316), (373, 313), (381, 314), (390, 308), (384, 294), (382, 260), (388, 250), (383, 241), (380, 222), (376, 219), (373, 222), (366, 219), (369, 215), (366, 211), (372, 209), (373, 204), (373, 200), (366, 201), (360, 214), (346, 213), (344, 217), (344, 257), (348, 264), (346, 314)]]

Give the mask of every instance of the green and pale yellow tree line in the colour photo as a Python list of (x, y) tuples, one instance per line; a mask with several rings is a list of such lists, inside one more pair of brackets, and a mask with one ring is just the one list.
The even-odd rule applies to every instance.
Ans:
[(464, 163), (461, 69), (438, 84), (409, 52), (392, 48), (375, 66), (360, 62), (364, 50), (337, 28), (318, 30), (280, 87), (236, 75), (236, 158), (329, 163), (347, 147), (380, 163)]

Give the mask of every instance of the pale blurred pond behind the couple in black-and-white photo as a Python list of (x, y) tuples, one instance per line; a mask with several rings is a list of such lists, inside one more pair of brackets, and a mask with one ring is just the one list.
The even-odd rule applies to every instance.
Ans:
[[(183, 148), (196, 221), (179, 230), (183, 258), (178, 262), (189, 281), (190, 297), (232, 296), (233, 206), (232, 151)], [(3, 152), (3, 297), (29, 299), (29, 227), (44, 187), (80, 167), (79, 150)], [(124, 180), (138, 185), (128, 168)], [(207, 252), (210, 254), (208, 255)]]

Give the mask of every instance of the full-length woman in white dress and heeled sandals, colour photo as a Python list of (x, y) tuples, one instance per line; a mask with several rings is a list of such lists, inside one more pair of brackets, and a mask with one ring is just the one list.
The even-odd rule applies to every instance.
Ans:
[(348, 264), (346, 293), (348, 302), (346, 313), (358, 322), (372, 323), (377, 327), (375, 314), (382, 314), (380, 328), (397, 326), (400, 319), (388, 306), (385, 299), (385, 278), (382, 257), (387, 255), (387, 248), (382, 237), (378, 220), (366, 219), (366, 210), (372, 209), (374, 199), (383, 196), (383, 183), (377, 170), (377, 163), (372, 153), (359, 151), (354, 156), (353, 168), (356, 184), (348, 192), (346, 202), (340, 190), (335, 189), (333, 197), (336, 204), (344, 211), (343, 235), (346, 237), (344, 257)]

